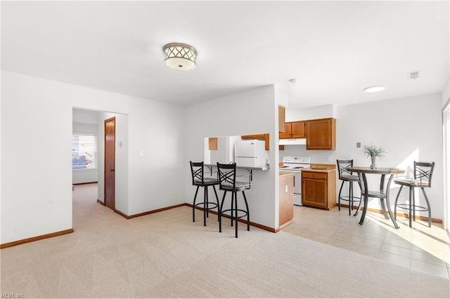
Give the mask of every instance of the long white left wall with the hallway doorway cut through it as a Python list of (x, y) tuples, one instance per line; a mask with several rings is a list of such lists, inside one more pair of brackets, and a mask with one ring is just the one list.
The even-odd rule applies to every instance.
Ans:
[(122, 213), (185, 201), (184, 107), (4, 71), (1, 87), (1, 244), (72, 228), (72, 107), (128, 115)]

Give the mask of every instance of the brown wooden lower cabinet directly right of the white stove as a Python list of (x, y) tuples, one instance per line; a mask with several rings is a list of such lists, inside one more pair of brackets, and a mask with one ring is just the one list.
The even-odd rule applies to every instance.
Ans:
[(330, 210), (336, 205), (336, 170), (302, 169), (302, 204)]

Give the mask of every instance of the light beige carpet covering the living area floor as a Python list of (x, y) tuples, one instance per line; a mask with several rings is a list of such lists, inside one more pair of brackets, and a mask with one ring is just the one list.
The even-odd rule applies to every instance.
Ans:
[[(126, 220), (74, 191), (75, 232), (1, 250), (1, 292), (25, 298), (449, 298), (450, 281), (191, 208)], [(94, 197), (94, 198), (93, 198)]]

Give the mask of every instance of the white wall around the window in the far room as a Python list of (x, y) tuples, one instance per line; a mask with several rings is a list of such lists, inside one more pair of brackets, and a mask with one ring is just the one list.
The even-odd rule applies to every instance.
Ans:
[[(72, 113), (75, 119), (75, 114), (79, 114), (79, 110), (73, 109), (73, 111), (77, 111), (75, 113)], [(97, 125), (72, 122), (72, 133), (97, 135)], [(98, 143), (98, 135), (97, 135), (97, 143)], [(98, 154), (96, 155), (95, 158), (97, 165), (99, 163), (102, 163), (101, 160), (100, 161), (98, 160)], [(72, 169), (72, 184), (80, 184), (84, 182), (97, 182), (97, 180), (98, 180), (98, 167), (89, 169), (88, 168)]]

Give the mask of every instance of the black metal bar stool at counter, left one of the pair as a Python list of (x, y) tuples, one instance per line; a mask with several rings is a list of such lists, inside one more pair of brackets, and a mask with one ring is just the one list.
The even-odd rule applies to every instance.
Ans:
[[(197, 190), (195, 190), (194, 201), (192, 204), (192, 221), (195, 222), (195, 208), (197, 206), (202, 206), (203, 208), (203, 225), (206, 226), (206, 218), (209, 217), (208, 211), (213, 208), (219, 208), (219, 197), (217, 196), (217, 191), (215, 185), (219, 185), (219, 180), (217, 177), (205, 177), (205, 167), (202, 162), (193, 162), (191, 163), (191, 174), (192, 174), (192, 185), (197, 186)], [(214, 194), (216, 194), (217, 203), (210, 202), (208, 199), (208, 187), (212, 186), (214, 190)], [(203, 187), (203, 202), (195, 204), (195, 199), (197, 199), (198, 189)], [(219, 211), (217, 211), (219, 213)], [(219, 220), (219, 218), (217, 219)]]

